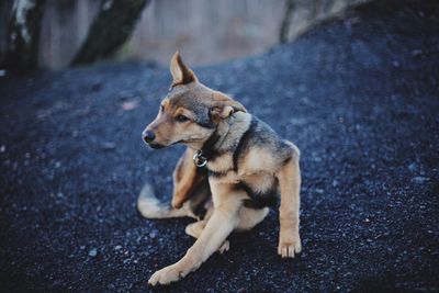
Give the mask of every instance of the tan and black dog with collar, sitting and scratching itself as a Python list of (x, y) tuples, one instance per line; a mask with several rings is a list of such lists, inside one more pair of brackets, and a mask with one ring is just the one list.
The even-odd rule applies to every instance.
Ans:
[(153, 148), (188, 148), (173, 171), (171, 204), (157, 200), (146, 183), (137, 207), (147, 218), (195, 218), (185, 233), (196, 240), (182, 259), (155, 272), (148, 284), (179, 281), (215, 251), (228, 250), (228, 235), (260, 223), (279, 194), (278, 253), (293, 258), (302, 250), (299, 148), (236, 100), (202, 84), (178, 52), (170, 71), (169, 93), (143, 139)]

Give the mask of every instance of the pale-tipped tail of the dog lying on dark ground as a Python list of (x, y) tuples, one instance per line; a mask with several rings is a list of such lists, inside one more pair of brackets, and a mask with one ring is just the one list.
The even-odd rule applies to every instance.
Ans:
[(166, 218), (190, 216), (187, 209), (173, 209), (170, 202), (161, 202), (154, 194), (154, 188), (149, 182), (143, 187), (137, 199), (137, 210), (146, 218)]

